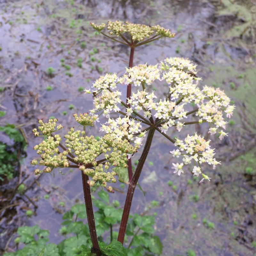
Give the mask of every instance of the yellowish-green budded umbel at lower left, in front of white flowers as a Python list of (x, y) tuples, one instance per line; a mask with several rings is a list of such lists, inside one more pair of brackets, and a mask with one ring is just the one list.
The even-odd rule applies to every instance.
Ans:
[[(84, 127), (86, 125), (92, 126), (98, 119), (97, 115), (89, 116), (88, 113), (73, 115), (79, 124)], [(38, 120), (40, 126), (39, 131), (44, 135), (49, 135), (54, 132), (57, 119), (50, 119), (48, 123), (42, 120)], [(57, 126), (57, 130), (63, 128), (62, 125)], [(33, 130), (35, 136), (39, 135), (36, 129)], [(107, 172), (109, 167), (127, 167), (127, 155), (132, 155), (137, 151), (139, 146), (133, 147), (126, 139), (120, 139), (116, 137), (114, 133), (105, 134), (99, 141), (94, 136), (86, 136), (85, 131), (75, 130), (74, 127), (70, 128), (68, 134), (64, 136), (66, 139), (66, 150), (60, 153), (60, 135), (51, 134), (47, 139), (36, 145), (34, 149), (36, 153), (41, 156), (41, 160), (32, 160), (31, 165), (43, 165), (46, 166), (44, 170), (36, 169), (35, 174), (42, 172), (52, 172), (54, 168), (65, 168), (70, 166), (68, 154), (74, 155), (73, 160), (79, 166), (79, 169), (88, 176), (92, 177), (91, 181), (88, 181), (90, 186), (93, 186), (96, 182), (99, 182), (101, 186), (106, 187), (107, 182), (116, 182), (114, 178), (117, 175), (116, 172)], [(61, 146), (63, 148), (63, 146)], [(104, 154), (101, 158), (101, 163), (97, 162), (96, 158)], [(69, 154), (69, 157), (72, 157)], [(98, 160), (99, 161), (99, 160)], [(73, 161), (72, 161), (73, 162)], [(103, 163), (102, 163), (103, 162)], [(94, 166), (94, 169), (86, 168), (86, 166)], [(104, 166), (103, 166), (104, 165)], [(113, 192), (111, 187), (108, 187), (109, 192)]]

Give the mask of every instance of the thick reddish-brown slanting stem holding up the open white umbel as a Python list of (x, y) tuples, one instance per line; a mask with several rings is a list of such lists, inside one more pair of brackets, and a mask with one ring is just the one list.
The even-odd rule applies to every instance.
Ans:
[(118, 233), (118, 238), (117, 238), (117, 241), (121, 242), (122, 244), (124, 243), (124, 236), (125, 236), (126, 226), (127, 226), (129, 213), (130, 213), (131, 205), (132, 205), (132, 197), (133, 197), (136, 185), (138, 183), (143, 165), (144, 165), (144, 163), (146, 161), (146, 158), (148, 156), (148, 152), (149, 152), (149, 149), (150, 149), (150, 146), (151, 146), (151, 142), (153, 140), (154, 132), (155, 132), (154, 128), (150, 129), (149, 132), (148, 132), (148, 137), (147, 137), (143, 152), (141, 154), (140, 161), (139, 161), (139, 163), (137, 165), (137, 168), (134, 172), (134, 175), (132, 177), (132, 181), (130, 182), (129, 187), (128, 187), (128, 191), (127, 191), (127, 195), (126, 195), (126, 199), (125, 199), (125, 204), (124, 204), (123, 216), (122, 216), (122, 220), (121, 220), (121, 224), (120, 224), (120, 228), (119, 228), (119, 233)]

